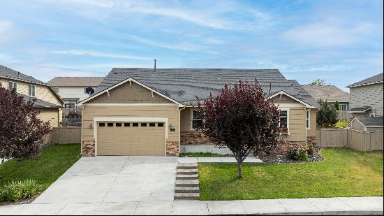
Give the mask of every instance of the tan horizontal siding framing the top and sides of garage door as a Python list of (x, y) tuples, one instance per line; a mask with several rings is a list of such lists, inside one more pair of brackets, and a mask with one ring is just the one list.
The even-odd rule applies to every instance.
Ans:
[[(167, 141), (179, 141), (179, 110), (177, 106), (87, 106), (82, 111), (82, 140), (94, 139), (94, 117), (166, 117), (168, 125)], [(92, 127), (91, 127), (92, 125)]]

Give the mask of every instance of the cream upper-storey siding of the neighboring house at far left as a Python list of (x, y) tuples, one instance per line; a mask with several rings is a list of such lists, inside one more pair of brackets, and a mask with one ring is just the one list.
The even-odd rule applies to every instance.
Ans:
[[(1, 85), (3, 85), (3, 87), (5, 87), (6, 89), (8, 89), (8, 81), (10, 81), (10, 79), (0, 78)], [(28, 83), (28, 82), (23, 82), (19, 80), (13, 80), (13, 81), (17, 82), (17, 93), (29, 95), (29, 84), (34, 84), (34, 83)], [(34, 84), (34, 85), (36, 85), (36, 99), (54, 103), (59, 106), (63, 105), (50, 87), (46, 85), (38, 85), (38, 84)]]

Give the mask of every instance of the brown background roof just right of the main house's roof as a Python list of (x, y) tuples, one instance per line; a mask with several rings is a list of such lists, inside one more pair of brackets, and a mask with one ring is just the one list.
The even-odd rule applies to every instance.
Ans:
[(349, 94), (334, 85), (303, 85), (311, 96), (327, 101), (349, 101)]

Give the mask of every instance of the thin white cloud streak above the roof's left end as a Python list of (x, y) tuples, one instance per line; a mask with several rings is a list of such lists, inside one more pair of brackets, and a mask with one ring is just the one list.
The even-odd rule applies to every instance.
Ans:
[(54, 50), (51, 53), (60, 55), (89, 55), (92, 57), (108, 57), (114, 59), (135, 59), (135, 60), (149, 60), (149, 57), (138, 57), (133, 55), (116, 55), (112, 53), (97, 52), (91, 50)]

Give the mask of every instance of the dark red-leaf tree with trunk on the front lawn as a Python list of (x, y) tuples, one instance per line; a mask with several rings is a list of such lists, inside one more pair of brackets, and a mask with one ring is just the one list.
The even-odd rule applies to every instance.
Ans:
[(265, 99), (263, 89), (255, 82), (224, 85), (216, 96), (210, 94), (198, 111), (204, 121), (199, 129), (216, 143), (228, 147), (237, 161), (242, 178), (242, 162), (252, 150), (263, 150), (277, 144), (280, 111)]

